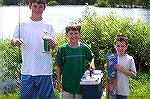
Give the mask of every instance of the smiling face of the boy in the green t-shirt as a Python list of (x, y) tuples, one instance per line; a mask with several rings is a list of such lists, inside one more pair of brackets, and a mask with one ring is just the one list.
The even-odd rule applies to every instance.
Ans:
[(67, 33), (67, 38), (69, 39), (70, 42), (77, 43), (80, 39), (80, 33), (78, 30), (76, 30), (76, 31), (70, 30)]

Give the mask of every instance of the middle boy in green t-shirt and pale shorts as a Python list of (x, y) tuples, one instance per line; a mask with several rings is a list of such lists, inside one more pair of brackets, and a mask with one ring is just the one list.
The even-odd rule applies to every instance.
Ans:
[(70, 23), (66, 28), (68, 43), (62, 45), (55, 60), (57, 82), (61, 99), (82, 99), (80, 79), (86, 70), (86, 61), (95, 69), (94, 54), (90, 48), (79, 42), (81, 26)]

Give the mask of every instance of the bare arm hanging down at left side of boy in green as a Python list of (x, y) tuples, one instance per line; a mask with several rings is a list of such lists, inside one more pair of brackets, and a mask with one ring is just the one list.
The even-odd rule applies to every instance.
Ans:
[(57, 74), (57, 84), (58, 84), (58, 88), (59, 88), (59, 91), (62, 92), (62, 91), (63, 91), (63, 86), (62, 86), (62, 84), (61, 84), (62, 68), (61, 68), (60, 65), (57, 66), (56, 74)]

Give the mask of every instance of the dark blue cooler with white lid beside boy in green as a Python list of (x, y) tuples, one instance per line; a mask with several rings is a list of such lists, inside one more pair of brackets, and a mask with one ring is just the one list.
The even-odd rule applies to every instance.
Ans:
[(102, 96), (101, 70), (92, 73), (87, 70), (81, 78), (80, 88), (83, 99), (100, 99)]

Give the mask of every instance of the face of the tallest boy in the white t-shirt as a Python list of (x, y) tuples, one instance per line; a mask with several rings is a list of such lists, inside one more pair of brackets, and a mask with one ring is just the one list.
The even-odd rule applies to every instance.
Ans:
[(32, 3), (32, 5), (30, 5), (29, 7), (34, 17), (41, 17), (43, 11), (45, 10), (44, 5), (42, 3), (38, 4), (37, 2)]

